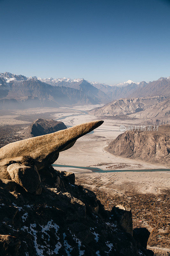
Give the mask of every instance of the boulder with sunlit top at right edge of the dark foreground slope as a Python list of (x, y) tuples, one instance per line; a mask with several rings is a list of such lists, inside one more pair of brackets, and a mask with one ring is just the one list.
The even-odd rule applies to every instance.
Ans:
[(132, 212), (129, 208), (118, 204), (112, 208), (111, 214), (114, 216), (119, 227), (130, 235), (133, 235)]

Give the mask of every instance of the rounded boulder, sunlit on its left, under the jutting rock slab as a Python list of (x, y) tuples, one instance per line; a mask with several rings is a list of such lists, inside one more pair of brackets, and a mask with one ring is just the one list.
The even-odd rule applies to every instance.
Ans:
[(40, 186), (38, 173), (29, 166), (11, 164), (8, 166), (7, 172), (10, 174), (12, 181), (15, 181), (29, 193), (36, 192)]

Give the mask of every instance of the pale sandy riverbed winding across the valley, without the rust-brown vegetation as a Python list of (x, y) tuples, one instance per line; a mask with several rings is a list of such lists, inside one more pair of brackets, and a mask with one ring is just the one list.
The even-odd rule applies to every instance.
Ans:
[[(88, 110), (99, 105), (77, 106), (72, 108), (32, 108), (24, 110), (12, 110), (9, 114), (0, 113), (0, 125), (4, 124), (30, 124), (31, 116), (61, 120), (66, 125), (76, 125), (98, 119), (89, 115)], [(1, 111), (2, 112), (2, 111)], [(48, 114), (49, 113), (49, 114)], [(22, 116), (21, 119), (19, 117)], [(26, 116), (26, 119), (23, 119)], [(38, 116), (38, 117), (37, 117)], [(17, 119), (15, 119), (17, 118)], [(27, 119), (28, 118), (28, 119)], [(46, 118), (47, 119), (47, 118)], [(123, 123), (121, 123), (123, 124)], [(122, 193), (125, 190), (136, 190), (142, 193), (157, 193), (161, 189), (170, 188), (170, 172), (129, 172), (128, 170), (162, 169), (166, 165), (146, 163), (141, 160), (118, 157), (105, 150), (108, 143), (115, 139), (121, 132), (120, 120), (104, 119), (104, 123), (78, 139), (75, 145), (60, 153), (55, 164), (98, 167), (107, 170), (107, 173), (96, 173), (89, 169), (73, 167), (57, 167), (58, 170), (74, 172), (77, 179), (89, 187), (98, 186), (108, 189), (113, 193)], [(110, 168), (109, 168), (110, 167)], [(111, 172), (110, 169), (127, 170), (127, 172)]]

